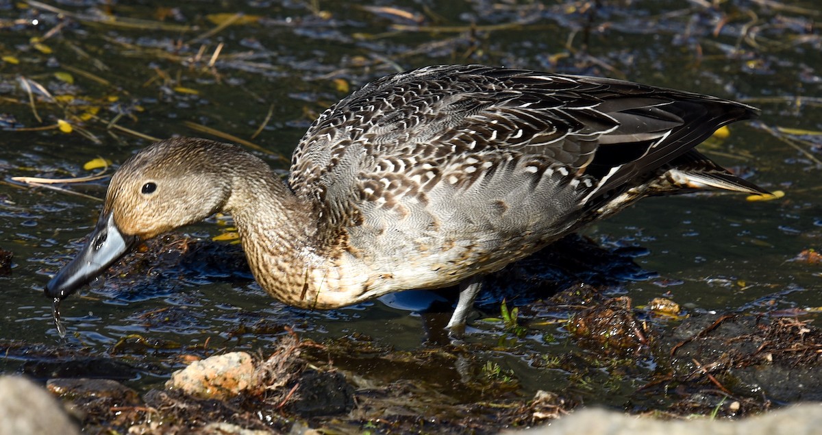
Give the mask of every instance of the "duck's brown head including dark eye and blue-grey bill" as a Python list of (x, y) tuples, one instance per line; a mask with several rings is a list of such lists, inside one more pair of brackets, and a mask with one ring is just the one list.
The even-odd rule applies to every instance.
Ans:
[(237, 153), (237, 146), (175, 138), (132, 156), (111, 178), (85, 247), (48, 281), (45, 294), (66, 298), (141, 241), (219, 211), (231, 192), (229, 156)]

